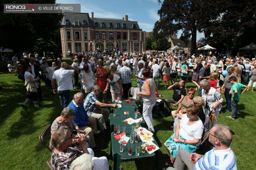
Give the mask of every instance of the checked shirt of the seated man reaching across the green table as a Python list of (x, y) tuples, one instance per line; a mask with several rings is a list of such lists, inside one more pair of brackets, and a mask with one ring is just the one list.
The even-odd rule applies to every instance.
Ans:
[(93, 92), (89, 93), (85, 99), (85, 102), (83, 102), (83, 107), (85, 108), (85, 111), (87, 111), (87, 114), (96, 113), (97, 111), (97, 105), (95, 104), (98, 100), (98, 97)]

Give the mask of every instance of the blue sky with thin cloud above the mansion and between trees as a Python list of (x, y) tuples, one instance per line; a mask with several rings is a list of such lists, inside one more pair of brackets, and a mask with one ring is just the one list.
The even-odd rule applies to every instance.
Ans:
[[(94, 12), (94, 17), (121, 19), (128, 15), (131, 21), (137, 21), (143, 31), (152, 31), (159, 20), (157, 11), (161, 8), (157, 0), (56, 0), (56, 3), (81, 4), (81, 12)], [(178, 33), (178, 38), (180, 34)], [(198, 33), (196, 40), (204, 37)]]

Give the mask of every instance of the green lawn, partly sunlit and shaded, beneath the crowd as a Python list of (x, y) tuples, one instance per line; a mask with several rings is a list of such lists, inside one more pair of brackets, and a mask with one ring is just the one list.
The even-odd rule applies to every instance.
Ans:
[[(64, 59), (70, 63), (69, 59)], [(133, 87), (137, 87), (136, 79), (132, 78)], [(7, 71), (0, 71), (0, 169), (49, 169), (46, 160), (50, 159), (51, 153), (39, 142), (38, 136), (54, 119), (60, 115), (60, 100), (57, 94), (50, 91), (44, 96), (45, 101), (39, 101), (39, 108), (34, 108), (29, 103), (28, 108), (21, 108), (20, 105), (25, 101), (25, 89), (22, 80), (17, 76), (9, 74)], [(186, 87), (194, 87), (193, 83), (186, 83)], [(42, 90), (45, 84), (42, 82)], [(71, 90), (73, 94), (78, 91)], [(173, 91), (164, 88), (164, 83), (160, 82), (159, 93), (163, 94), (163, 99), (170, 98)], [(196, 92), (197, 94), (197, 92)], [(109, 94), (108, 94), (109, 95)], [(224, 98), (224, 95), (222, 95)], [(110, 96), (107, 97), (108, 99)], [(99, 97), (102, 100), (102, 97)], [(231, 148), (236, 154), (237, 169), (255, 169), (255, 145), (256, 145), (256, 125), (255, 125), (255, 102), (256, 92), (247, 91), (239, 101), (239, 118), (231, 120), (226, 118), (230, 112), (222, 111), (218, 118), (218, 123), (227, 125), (233, 133)], [(224, 99), (225, 101), (225, 99)], [(225, 102), (223, 102), (225, 106)], [(176, 109), (177, 107), (173, 107)], [(142, 108), (140, 108), (142, 110)], [(158, 111), (158, 109), (157, 109)], [(156, 111), (156, 112), (157, 112)], [(159, 169), (164, 167), (164, 162), (169, 159), (163, 143), (168, 139), (173, 131), (171, 117), (162, 118), (153, 114), (154, 128), (157, 133), (154, 135), (159, 150)], [(99, 129), (99, 128), (98, 128)], [(101, 151), (96, 152), (95, 156), (107, 156), (110, 167), (113, 169), (113, 161), (110, 157), (110, 138), (95, 138), (96, 145)], [(205, 151), (198, 151), (204, 154), (210, 150), (212, 145), (207, 144)], [(154, 169), (152, 159), (141, 162), (123, 162), (121, 165), (126, 170), (135, 169)]]

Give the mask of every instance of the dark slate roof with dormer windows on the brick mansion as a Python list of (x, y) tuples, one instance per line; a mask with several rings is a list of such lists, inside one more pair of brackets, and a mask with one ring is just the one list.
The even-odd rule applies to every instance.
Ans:
[[(140, 29), (137, 21), (125, 21), (124, 19), (90, 18), (88, 13), (65, 12), (61, 25), (75, 26), (74, 20), (79, 20), (79, 26), (91, 26), (98, 28)], [(69, 22), (67, 22), (69, 20)], [(112, 23), (112, 24), (111, 24)], [(119, 27), (118, 27), (119, 24)]]

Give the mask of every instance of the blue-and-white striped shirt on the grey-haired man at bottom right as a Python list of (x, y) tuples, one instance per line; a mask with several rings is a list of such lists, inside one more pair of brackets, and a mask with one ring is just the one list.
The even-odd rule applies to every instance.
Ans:
[(194, 170), (237, 170), (236, 155), (229, 147), (225, 150), (212, 150), (206, 152), (204, 157), (195, 163)]

